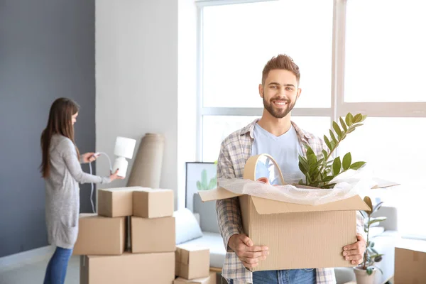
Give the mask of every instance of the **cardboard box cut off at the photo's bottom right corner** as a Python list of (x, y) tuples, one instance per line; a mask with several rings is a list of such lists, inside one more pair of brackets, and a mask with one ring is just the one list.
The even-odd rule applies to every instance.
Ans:
[(426, 241), (403, 239), (395, 246), (394, 280), (395, 284), (426, 283)]

